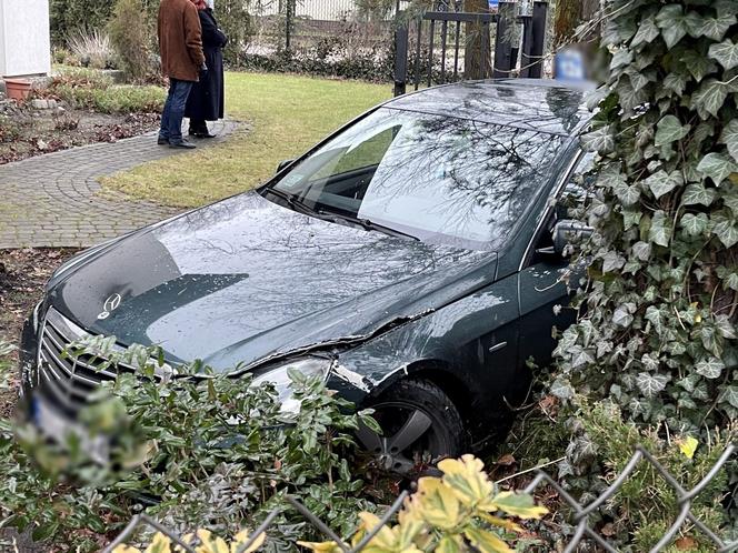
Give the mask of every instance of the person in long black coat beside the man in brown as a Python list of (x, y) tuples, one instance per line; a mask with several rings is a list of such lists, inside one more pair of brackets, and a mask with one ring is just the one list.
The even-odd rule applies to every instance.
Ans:
[[(195, 0), (192, 0), (195, 1)], [(202, 27), (202, 50), (208, 71), (200, 76), (187, 100), (184, 115), (190, 119), (190, 135), (213, 138), (206, 121), (223, 118), (223, 47), (228, 37), (218, 28), (212, 8), (205, 2), (196, 2)]]

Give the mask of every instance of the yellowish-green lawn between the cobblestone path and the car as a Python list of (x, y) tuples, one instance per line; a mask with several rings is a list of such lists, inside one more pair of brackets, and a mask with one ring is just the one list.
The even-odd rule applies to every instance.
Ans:
[(222, 144), (104, 178), (102, 184), (167, 205), (202, 205), (263, 182), (279, 161), (390, 95), (389, 84), (229, 72), (226, 111), (248, 130)]

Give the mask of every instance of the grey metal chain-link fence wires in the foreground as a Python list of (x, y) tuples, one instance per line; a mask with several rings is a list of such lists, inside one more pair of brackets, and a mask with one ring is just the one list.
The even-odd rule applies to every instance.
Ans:
[[(618, 550), (607, 541), (601, 534), (599, 534), (591, 525), (590, 519), (592, 515), (608, 501), (610, 500), (621, 486), (634, 475), (638, 470), (639, 465), (642, 463), (648, 463), (651, 467), (658, 473), (660, 477), (674, 490), (677, 504), (678, 504), (678, 515), (669, 530), (664, 534), (659, 542), (652, 546), (650, 550), (651, 553), (657, 553), (665, 551), (668, 547), (676, 536), (679, 534), (679, 531), (684, 527), (685, 524), (691, 524), (695, 529), (701, 532), (707, 542), (711, 543), (715, 546), (715, 551), (718, 553), (728, 553), (738, 551), (738, 541), (726, 541), (720, 537), (714, 530), (707, 527), (707, 525), (701, 522), (692, 512), (692, 504), (696, 497), (708, 486), (708, 484), (719, 474), (721, 469), (731, 460), (736, 454), (738, 448), (729, 445), (722, 455), (718, 459), (716, 464), (708, 471), (707, 474), (695, 485), (694, 487), (687, 490), (685, 489), (677, 479), (667, 471), (661, 463), (646, 449), (638, 448), (634, 455), (630, 458), (624, 470), (615, 479), (615, 481), (609, 485), (609, 487), (601, 493), (596, 500), (587, 505), (581, 505), (577, 500), (575, 500), (564, 487), (549, 474), (543, 471), (538, 471), (533, 480), (525, 489), (526, 493), (535, 493), (536, 490), (541, 486), (551, 486), (558, 493), (559, 500), (562, 505), (568, 506), (572, 511), (572, 517), (575, 523), (575, 531), (572, 536), (569, 539), (569, 542), (566, 546), (564, 553), (574, 553), (578, 551), (578, 547), (584, 544), (586, 541), (590, 541), (597, 546), (601, 547), (607, 552), (617, 552)], [(297, 499), (287, 496), (287, 501), (290, 506), (298, 511), (316, 530), (323, 534), (328, 540), (333, 541), (337, 546), (343, 551), (343, 553), (358, 553), (362, 551), (369, 542), (379, 533), (379, 531), (390, 523), (399, 511), (402, 509), (403, 502), (408, 496), (408, 492), (402, 492), (395, 503), (387, 510), (385, 515), (380, 519), (379, 523), (369, 531), (360, 542), (351, 546), (346, 543), (340, 536), (336, 534), (322, 520), (310, 512), (302, 503)], [(268, 532), (272, 523), (277, 517), (282, 513), (281, 509), (276, 509), (269, 513), (265, 521), (257, 527), (249, 540), (239, 545), (237, 549), (238, 553), (243, 553), (249, 550), (256, 540), (265, 532)], [(126, 529), (118, 535), (118, 537), (103, 550), (103, 553), (112, 553), (112, 551), (120, 544), (126, 543), (130, 537), (134, 536), (136, 532), (141, 526), (149, 526), (156, 531), (159, 531), (167, 536), (169, 536), (173, 543), (180, 545), (188, 553), (196, 552), (196, 543), (186, 542), (181, 535), (178, 535), (176, 532), (172, 532), (170, 529), (163, 526), (156, 520), (147, 516), (146, 514), (134, 516), (131, 522), (126, 526)]]

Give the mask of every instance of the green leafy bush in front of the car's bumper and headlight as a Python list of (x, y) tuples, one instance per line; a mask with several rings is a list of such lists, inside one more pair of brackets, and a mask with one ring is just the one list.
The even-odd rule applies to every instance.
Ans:
[[(368, 413), (351, 413), (319, 379), (292, 374), (300, 409), (290, 414), (271, 385), (250, 388), (248, 376), (147, 378), (152, 353), (129, 350), (124, 359), (139, 363), (139, 376), (121, 375), (80, 415), (90, 432), (110, 440), (107, 465), (91, 462), (79, 436), (61, 448), (32, 426), (13, 432), (8, 421), (0, 424), (3, 524), (30, 527), (37, 540), (69, 551), (91, 551), (141, 509), (182, 533), (207, 521), (221, 535), (238, 532), (245, 520), (258, 523), (287, 493), (345, 533), (356, 513), (376, 510), (347, 461), (350, 432), (360, 419), (372, 422)], [(317, 535), (286, 509), (270, 543), (299, 537)]]

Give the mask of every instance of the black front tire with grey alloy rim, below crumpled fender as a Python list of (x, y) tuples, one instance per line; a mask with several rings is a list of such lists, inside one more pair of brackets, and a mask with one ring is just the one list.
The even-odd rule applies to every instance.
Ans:
[(461, 415), (449, 396), (428, 380), (399, 381), (366, 406), (376, 410), (373, 418), (382, 434), (362, 428), (357, 438), (381, 470), (412, 476), (441, 459), (465, 453)]

